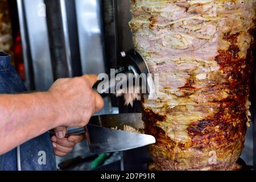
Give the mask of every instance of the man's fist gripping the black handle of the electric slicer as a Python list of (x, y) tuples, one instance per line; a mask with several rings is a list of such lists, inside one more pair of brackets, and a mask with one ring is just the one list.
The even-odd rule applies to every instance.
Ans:
[(56, 111), (60, 114), (58, 126), (83, 127), (90, 117), (104, 106), (100, 94), (93, 91), (96, 75), (57, 80), (49, 89), (56, 101)]

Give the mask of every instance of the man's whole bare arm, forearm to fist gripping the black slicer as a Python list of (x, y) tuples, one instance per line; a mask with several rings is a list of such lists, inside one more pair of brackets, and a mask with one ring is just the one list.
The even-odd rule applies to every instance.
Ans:
[[(85, 126), (104, 106), (92, 89), (96, 81), (96, 75), (63, 78), (48, 92), (0, 94), (0, 155), (56, 127)], [(72, 146), (61, 143), (65, 150)]]

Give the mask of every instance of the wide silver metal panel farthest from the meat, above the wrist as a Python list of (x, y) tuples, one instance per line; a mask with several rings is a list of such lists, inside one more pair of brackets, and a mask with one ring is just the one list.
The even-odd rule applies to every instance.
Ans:
[(22, 2), (26, 15), (35, 89), (47, 90), (53, 82), (53, 74), (44, 1), (23, 0)]

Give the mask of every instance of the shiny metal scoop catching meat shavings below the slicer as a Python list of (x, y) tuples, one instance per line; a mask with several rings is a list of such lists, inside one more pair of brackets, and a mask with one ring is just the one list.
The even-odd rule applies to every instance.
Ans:
[(94, 116), (85, 127), (85, 131), (83, 128), (76, 128), (68, 130), (67, 134), (85, 132), (90, 151), (97, 154), (125, 151), (155, 143), (152, 135), (122, 131), (125, 125), (143, 129), (141, 113)]

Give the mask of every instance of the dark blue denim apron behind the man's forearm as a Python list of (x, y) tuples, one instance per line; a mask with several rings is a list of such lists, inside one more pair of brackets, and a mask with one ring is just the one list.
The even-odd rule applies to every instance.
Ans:
[[(0, 94), (26, 91), (21, 78), (11, 65), (11, 56), (0, 52)], [(56, 170), (55, 154), (48, 133), (31, 139), (20, 146), (20, 164), (22, 171)], [(0, 155), (0, 171), (16, 171), (17, 169), (16, 148)]]

